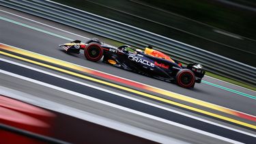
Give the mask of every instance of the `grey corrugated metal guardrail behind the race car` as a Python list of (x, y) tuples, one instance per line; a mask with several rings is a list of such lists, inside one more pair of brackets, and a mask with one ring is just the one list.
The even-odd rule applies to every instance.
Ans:
[[(182, 63), (201, 63), (205, 70), (256, 85), (256, 68), (244, 63), (216, 55), (201, 48), (177, 42), (169, 38), (119, 23), (109, 18), (70, 8), (53, 1), (0, 0), (0, 5), (64, 25), (75, 27), (106, 38), (111, 38), (138, 48), (152, 45)], [(228, 53), (228, 52), (227, 52)], [(239, 57), (239, 56), (238, 56)]]

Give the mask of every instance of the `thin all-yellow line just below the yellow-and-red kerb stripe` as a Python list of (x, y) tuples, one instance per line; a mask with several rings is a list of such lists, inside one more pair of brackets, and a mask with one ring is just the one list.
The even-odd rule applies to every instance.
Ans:
[(147, 97), (147, 98), (152, 98), (152, 99), (154, 99), (154, 100), (158, 100), (158, 101), (161, 101), (161, 102), (166, 102), (167, 104), (173, 104), (173, 105), (175, 105), (175, 106), (180, 106), (180, 107), (182, 107), (182, 108), (184, 108), (184, 109), (189, 109), (189, 110), (191, 110), (191, 111), (196, 111), (196, 112), (198, 112), (198, 113), (203, 113), (203, 114), (205, 114), (205, 115), (210, 115), (210, 116), (216, 117), (216, 118), (218, 118), (218, 119), (223, 119), (223, 120), (225, 120), (225, 121), (230, 121), (230, 122), (232, 122), (232, 123), (234, 123), (234, 124), (239, 124), (239, 125), (241, 125), (241, 126), (246, 126), (246, 127), (248, 127), (248, 128), (253, 128), (253, 129), (256, 130), (256, 126), (254, 126), (254, 125), (252, 125), (252, 124), (247, 124), (247, 123), (245, 123), (245, 122), (238, 121), (238, 120), (236, 120), (236, 119), (231, 119), (231, 118), (229, 118), (229, 117), (224, 117), (224, 116), (222, 116), (222, 115), (218, 115), (218, 114), (215, 114), (215, 113), (210, 113), (210, 112), (208, 112), (208, 111), (203, 111), (203, 110), (201, 110), (201, 109), (197, 109), (197, 108), (194, 108), (194, 107), (192, 107), (192, 106), (187, 106), (187, 105), (185, 105), (185, 104), (180, 104), (180, 103), (178, 103), (178, 102), (173, 102), (173, 101), (167, 100), (167, 99), (165, 99), (165, 98), (160, 98), (160, 97), (157, 97), (157, 96), (153, 96), (153, 95), (151, 95), (151, 94), (149, 94), (149, 93), (144, 93), (144, 92), (137, 91), (137, 90), (134, 90), (134, 89), (130, 89), (130, 88), (128, 88), (128, 87), (123, 87), (123, 86), (120, 86), (120, 85), (115, 85), (115, 84), (113, 84), (113, 83), (109, 83), (109, 82), (106, 82), (106, 81), (98, 80), (98, 79), (96, 79), (96, 78), (91, 78), (91, 77), (85, 76), (85, 75), (83, 75), (83, 74), (77, 74), (77, 73), (75, 73), (75, 72), (70, 72), (70, 71), (68, 71), (68, 70), (63, 70), (63, 69), (61, 69), (61, 68), (57, 68), (57, 67), (54, 67), (54, 66), (50, 66), (50, 65), (47, 65), (47, 64), (44, 64), (44, 63), (40, 63), (40, 62), (38, 62), (38, 61), (33, 61), (33, 60), (31, 60), (31, 59), (26, 59), (26, 58), (19, 57), (19, 56), (16, 56), (16, 55), (12, 55), (12, 54), (9, 54), (9, 53), (5, 53), (5, 52), (3, 52), (3, 51), (0, 51), (0, 54), (6, 55), (6, 56), (8, 56), (8, 57), (14, 57), (14, 58), (16, 58), (16, 59), (20, 59), (20, 60), (23, 60), (23, 61), (27, 61), (27, 62), (29, 62), (29, 63), (34, 63), (34, 64), (36, 64), (36, 65), (38, 65), (38, 66), (43, 66), (43, 67), (46, 67), (46, 68), (51, 68), (51, 69), (53, 69), (53, 70), (57, 70), (57, 71), (59, 71), (59, 72), (64, 72), (64, 73), (66, 73), (66, 74), (71, 74), (71, 75), (73, 75), (73, 76), (78, 76), (78, 77), (81, 77), (81, 78), (85, 78), (85, 79), (87, 79), (87, 80), (89, 80), (89, 81), (94, 81), (94, 82), (101, 83), (101, 84), (104, 84), (104, 85), (109, 85), (109, 86), (111, 86), (111, 87), (116, 87), (116, 88), (118, 88), (118, 89), (122, 89), (122, 90), (125, 90), (125, 91), (130, 91), (130, 92), (132, 92), (132, 93), (137, 93), (137, 94), (139, 94), (139, 95), (141, 95), (141, 96), (145, 96), (145, 97)]

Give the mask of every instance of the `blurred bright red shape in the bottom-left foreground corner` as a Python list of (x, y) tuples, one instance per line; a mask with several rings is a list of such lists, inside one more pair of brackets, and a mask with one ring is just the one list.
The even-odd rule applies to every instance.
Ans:
[[(36, 134), (51, 135), (55, 114), (37, 106), (0, 95), (0, 123)], [(41, 143), (14, 132), (0, 130), (0, 143)]]

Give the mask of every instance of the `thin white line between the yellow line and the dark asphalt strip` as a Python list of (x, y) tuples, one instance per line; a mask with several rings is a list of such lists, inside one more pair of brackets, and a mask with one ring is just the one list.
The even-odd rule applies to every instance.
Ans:
[[(117, 93), (117, 92), (115, 92), (115, 91), (110, 91), (109, 89), (104, 89), (104, 88), (101, 88), (101, 87), (96, 87), (96, 86), (94, 86), (94, 85), (89, 85), (89, 84), (83, 83), (83, 82), (81, 82), (81, 81), (76, 81), (76, 80), (73, 80), (73, 79), (71, 79), (71, 78), (66, 78), (66, 77), (64, 77), (64, 76), (59, 76), (59, 75), (57, 75), (57, 74), (53, 74), (53, 73), (51, 73), (51, 72), (46, 72), (46, 71), (44, 71), (44, 70), (40, 70), (40, 69), (37, 69), (37, 68), (33, 68), (33, 67), (30, 67), (30, 66), (26, 66), (26, 65), (23, 65), (23, 64), (21, 64), (21, 63), (16, 63), (16, 62), (10, 61), (10, 60), (8, 60), (8, 59), (2, 59), (2, 58), (0, 58), (0, 61), (5, 61), (5, 62), (7, 62), (7, 63), (12, 63), (12, 64), (14, 64), (14, 65), (16, 65), (16, 66), (20, 66), (20, 67), (23, 67), (23, 68), (27, 68), (27, 69), (29, 69), (29, 70), (35, 70), (35, 71), (41, 72), (41, 73), (43, 73), (43, 74), (48, 74), (48, 75), (51, 75), (51, 76), (55, 76), (55, 77), (57, 77), (57, 78), (64, 79), (64, 80), (66, 80), (66, 81), (70, 81), (70, 82), (72, 82), (72, 83), (77, 83), (77, 84), (79, 84), (79, 85), (85, 85), (86, 87), (91, 87), (91, 88), (93, 88), (93, 89), (98, 89), (98, 90), (100, 90), (100, 91), (104, 91), (104, 92), (107, 92), (107, 93), (111, 93), (111, 94), (113, 94), (113, 95), (120, 96), (120, 97), (122, 97), (122, 98), (127, 98), (127, 99), (129, 99), (129, 100), (134, 100), (134, 101), (136, 101), (136, 102), (140, 102), (140, 103), (143, 103), (143, 104), (147, 104), (147, 105), (150, 105), (150, 106), (154, 106), (154, 107), (156, 107), (156, 108), (158, 108), (158, 109), (163, 109), (163, 110), (165, 110), (165, 111), (170, 111), (170, 112), (172, 112), (172, 113), (177, 113), (177, 114), (179, 114), (179, 115), (183, 115), (183, 116), (186, 116), (186, 117), (190, 117), (190, 118), (192, 118), (192, 119), (197, 119), (197, 120), (199, 120), (199, 121), (203, 121), (203, 122), (205, 122), (205, 123), (212, 124), (212, 125), (214, 125), (214, 126), (219, 126), (219, 127), (221, 127), (221, 128), (226, 128), (226, 129), (228, 129), (228, 130), (232, 130), (232, 131), (235, 131), (235, 132), (240, 132), (240, 133), (242, 133), (242, 134), (246, 134), (246, 135), (248, 135), (248, 136), (254, 136), (254, 137), (256, 137), (255, 134), (251, 134), (251, 133), (249, 133), (249, 132), (244, 132), (244, 131), (242, 131), (242, 130), (238, 130), (238, 129), (235, 129), (235, 128), (231, 128), (231, 127), (228, 127), (228, 126), (223, 126), (223, 125), (221, 125), (221, 124), (217, 124), (217, 123), (214, 123), (214, 122), (212, 122), (212, 121), (208, 121), (208, 120), (206, 120), (206, 119), (202, 119), (202, 118), (200, 118), (200, 117), (195, 117), (195, 116), (193, 116), (193, 115), (188, 115), (188, 114), (186, 114), (186, 113), (182, 113), (182, 112), (180, 112), (180, 111), (175, 111), (175, 110), (173, 110), (173, 109), (169, 109), (169, 108), (166, 108), (166, 107), (164, 107), (164, 106), (160, 106), (160, 105), (157, 105), (157, 104), (153, 104), (153, 103), (150, 103), (150, 102), (146, 102), (146, 101), (143, 101), (143, 100), (139, 100), (139, 99), (137, 99), (137, 98), (132, 98), (132, 97), (126, 96), (126, 95), (124, 95), (124, 94), (122, 94), (122, 93)], [(36, 80), (34, 80), (34, 81), (36, 81)], [(41, 82), (41, 83), (43, 83), (43, 82)], [(98, 99), (97, 99), (97, 100), (98, 100)]]

